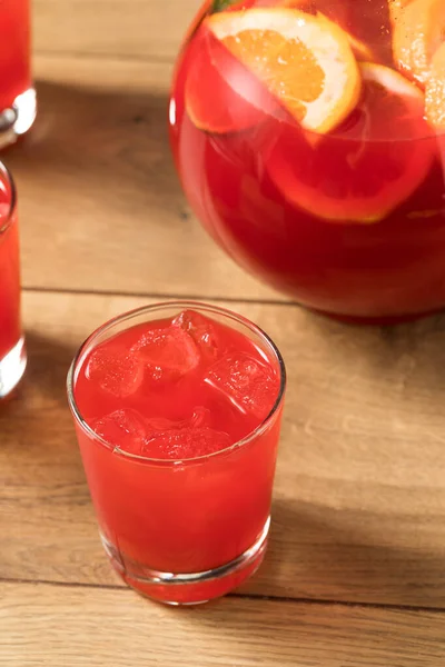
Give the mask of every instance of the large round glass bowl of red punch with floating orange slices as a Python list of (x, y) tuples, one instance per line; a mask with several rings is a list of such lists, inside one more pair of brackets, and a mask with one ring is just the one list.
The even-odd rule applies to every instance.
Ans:
[(445, 0), (214, 0), (181, 50), (182, 187), (226, 252), (303, 305), (445, 306)]

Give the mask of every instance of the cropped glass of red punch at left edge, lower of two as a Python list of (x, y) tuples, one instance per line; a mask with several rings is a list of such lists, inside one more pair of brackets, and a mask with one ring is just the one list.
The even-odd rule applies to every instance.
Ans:
[(19, 228), (16, 187), (0, 163), (0, 399), (17, 386), (27, 359), (20, 325)]

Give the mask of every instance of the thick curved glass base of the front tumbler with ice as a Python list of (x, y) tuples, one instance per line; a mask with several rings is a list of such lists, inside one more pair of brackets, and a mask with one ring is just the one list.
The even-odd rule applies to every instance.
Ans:
[(270, 518), (256, 542), (230, 563), (201, 573), (178, 575), (129, 560), (102, 534), (100, 538), (116, 571), (138, 593), (166, 605), (202, 605), (237, 588), (256, 573), (266, 552), (269, 527)]

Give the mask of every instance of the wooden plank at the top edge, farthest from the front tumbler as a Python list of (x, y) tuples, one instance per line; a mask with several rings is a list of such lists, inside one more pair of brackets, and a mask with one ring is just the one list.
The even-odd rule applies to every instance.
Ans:
[(34, 0), (37, 52), (174, 60), (200, 0)]

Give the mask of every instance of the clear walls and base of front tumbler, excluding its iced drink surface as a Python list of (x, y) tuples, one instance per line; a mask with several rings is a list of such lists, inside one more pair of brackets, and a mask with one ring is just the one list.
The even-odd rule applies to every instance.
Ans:
[[(127, 454), (98, 436), (79, 408), (93, 410), (93, 390), (81, 396), (79, 382), (86, 359), (134, 327), (166, 321), (187, 309), (254, 342), (277, 378), (275, 404), (251, 432), (220, 451), (181, 460)], [(68, 375), (68, 398), (101, 541), (129, 586), (166, 604), (199, 604), (225, 595), (259, 567), (270, 524), (285, 384), (281, 356), (264, 331), (202, 303), (161, 303), (122, 315), (81, 346)], [(175, 400), (168, 392), (167, 399)]]

